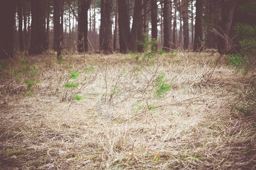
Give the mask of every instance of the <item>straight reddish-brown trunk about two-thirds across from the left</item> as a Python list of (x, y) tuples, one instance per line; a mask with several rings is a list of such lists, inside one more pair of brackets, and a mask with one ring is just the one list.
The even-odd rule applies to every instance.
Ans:
[(164, 44), (163, 50), (169, 51), (170, 50), (170, 0), (164, 0), (164, 8), (163, 8), (163, 32), (164, 32)]

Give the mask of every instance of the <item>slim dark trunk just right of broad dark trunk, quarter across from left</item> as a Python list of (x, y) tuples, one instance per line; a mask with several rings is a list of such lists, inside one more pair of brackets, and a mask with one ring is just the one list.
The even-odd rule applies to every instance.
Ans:
[(61, 55), (60, 1), (53, 3), (53, 50), (57, 52), (57, 58)]

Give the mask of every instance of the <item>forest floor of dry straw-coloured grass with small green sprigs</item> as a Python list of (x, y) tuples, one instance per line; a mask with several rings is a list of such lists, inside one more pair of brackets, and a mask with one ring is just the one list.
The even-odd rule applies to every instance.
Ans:
[(0, 169), (256, 168), (256, 115), (233, 108), (255, 76), (217, 53), (143, 58), (1, 61)]

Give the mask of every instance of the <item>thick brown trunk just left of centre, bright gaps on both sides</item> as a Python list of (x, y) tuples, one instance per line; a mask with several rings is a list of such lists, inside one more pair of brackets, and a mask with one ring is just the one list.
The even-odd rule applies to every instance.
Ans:
[(112, 0), (101, 0), (100, 50), (112, 54)]

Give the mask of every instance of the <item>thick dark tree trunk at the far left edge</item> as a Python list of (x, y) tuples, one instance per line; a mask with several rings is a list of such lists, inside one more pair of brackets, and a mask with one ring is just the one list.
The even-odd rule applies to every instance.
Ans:
[(16, 0), (0, 2), (0, 59), (13, 57)]

